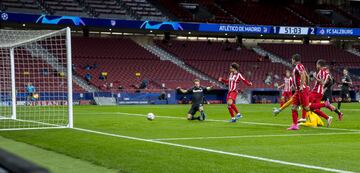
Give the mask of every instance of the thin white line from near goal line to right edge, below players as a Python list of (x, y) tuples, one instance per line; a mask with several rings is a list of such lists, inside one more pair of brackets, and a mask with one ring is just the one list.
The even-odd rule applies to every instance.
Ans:
[(360, 132), (339, 132), (339, 133), (308, 133), (308, 134), (275, 134), (275, 135), (243, 135), (243, 136), (205, 136), (189, 138), (157, 138), (155, 141), (178, 141), (178, 140), (202, 140), (202, 139), (237, 139), (237, 138), (262, 138), (262, 137), (297, 137), (297, 136), (327, 136), (327, 135), (348, 135), (360, 134)]

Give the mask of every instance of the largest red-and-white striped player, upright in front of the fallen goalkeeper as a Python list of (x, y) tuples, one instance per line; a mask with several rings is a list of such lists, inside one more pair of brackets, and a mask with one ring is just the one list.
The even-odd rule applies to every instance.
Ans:
[(293, 70), (293, 79), (295, 94), (293, 96), (292, 102), (292, 125), (288, 130), (299, 130), (298, 126), (298, 108), (302, 106), (302, 118), (300, 121), (305, 120), (306, 112), (310, 110), (309, 108), (309, 87), (307, 86), (309, 76), (305, 70), (305, 67), (301, 64), (301, 57), (299, 54), (295, 54), (291, 58), (291, 62), (294, 65)]

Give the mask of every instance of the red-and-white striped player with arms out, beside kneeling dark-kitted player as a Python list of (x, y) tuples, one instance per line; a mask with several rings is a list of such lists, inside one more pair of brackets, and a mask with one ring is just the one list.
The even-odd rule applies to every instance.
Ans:
[[(252, 83), (246, 80), (241, 73), (239, 73), (239, 64), (237, 63), (231, 63), (230, 65), (230, 75), (229, 79), (223, 79), (219, 78), (220, 82), (223, 82), (225, 84), (229, 85), (229, 91), (226, 98), (227, 104), (228, 104), (228, 110), (231, 116), (230, 122), (236, 122), (237, 119), (241, 118), (241, 114), (239, 113), (238, 109), (235, 106), (235, 100), (238, 95), (238, 89), (237, 85), (240, 81), (243, 81), (248, 86), (251, 86)], [(234, 115), (234, 112), (236, 113), (236, 118)]]

